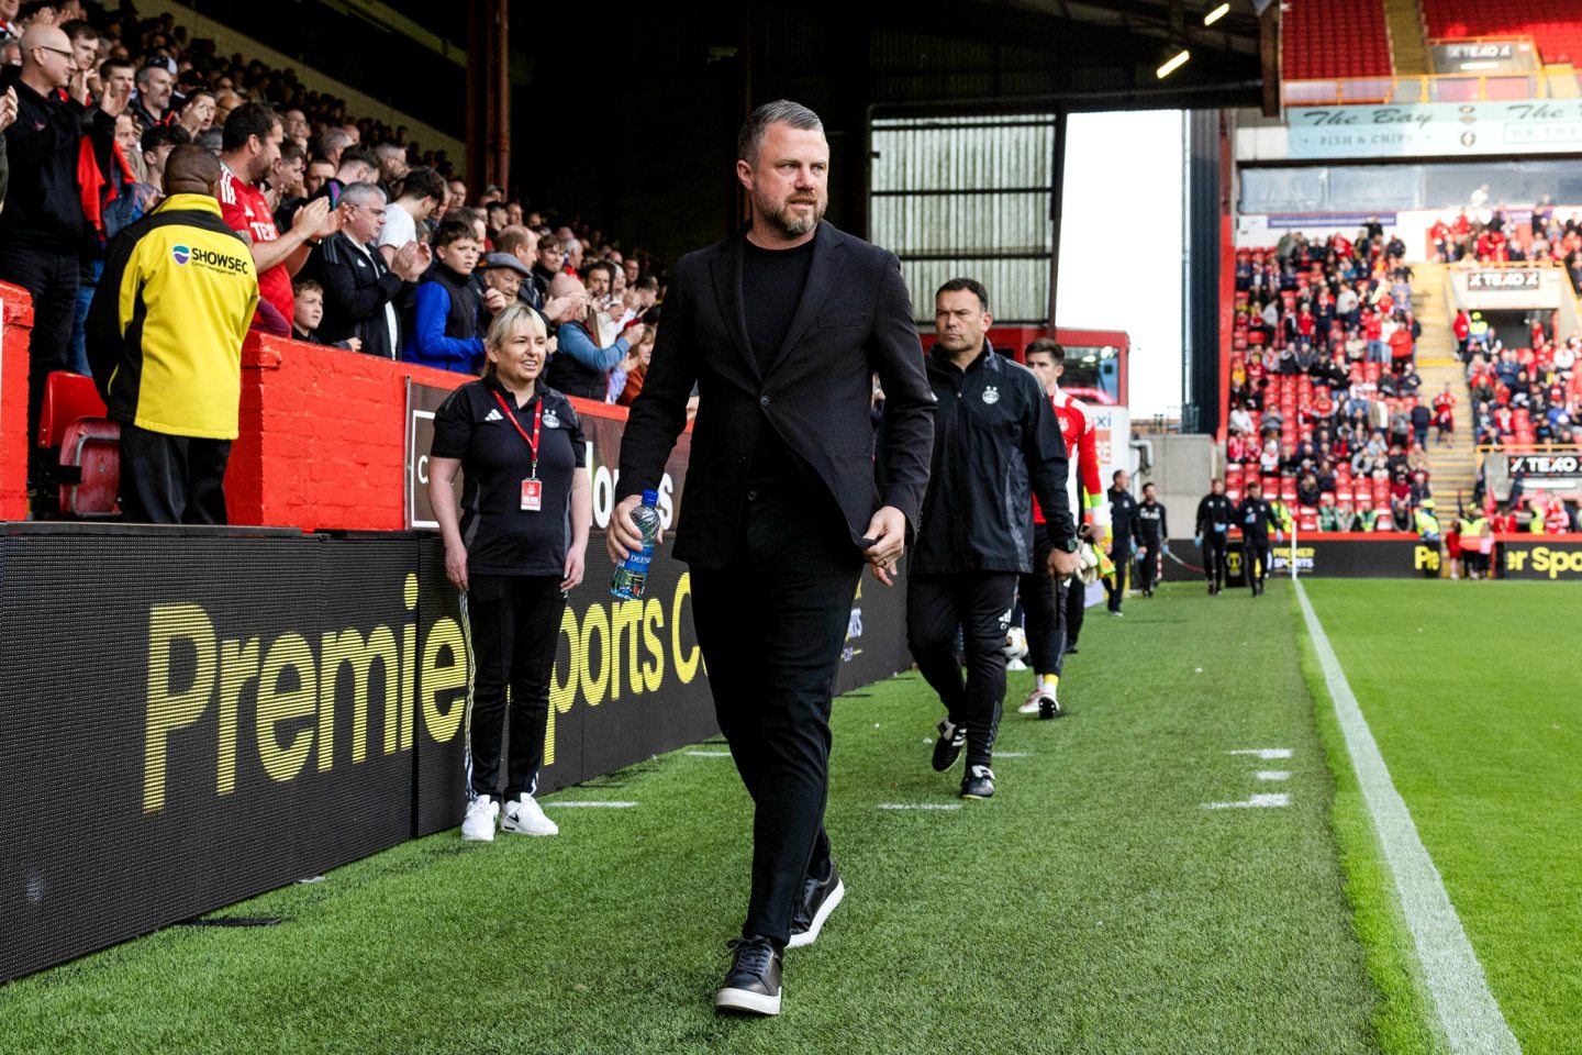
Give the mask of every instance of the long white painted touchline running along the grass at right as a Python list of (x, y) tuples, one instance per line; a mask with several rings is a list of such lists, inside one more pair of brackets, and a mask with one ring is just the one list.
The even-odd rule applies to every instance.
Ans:
[(1417, 947), (1424, 981), (1433, 996), (1451, 1050), (1478, 1055), (1519, 1053), (1522, 1047), (1506, 1025), (1493, 993), (1489, 992), (1489, 979), (1478, 962), (1478, 954), (1462, 930), (1460, 916), (1444, 892), (1444, 881), (1417, 835), (1417, 826), (1411, 822), (1406, 802), (1395, 791), (1384, 756), (1380, 754), (1373, 731), (1368, 729), (1362, 707), (1357, 705), (1346, 674), (1340, 669), (1340, 660), (1324, 636), (1313, 603), (1307, 599), (1300, 580), (1294, 585), (1297, 601), (1302, 604), (1302, 618), (1307, 620), (1307, 634), (1313, 641), (1313, 652), (1318, 653), (1318, 664), (1324, 671), (1324, 683), (1335, 705), (1335, 720), (1346, 739), (1351, 767), (1362, 788), (1362, 800), (1368, 805), (1373, 830), (1378, 832), (1384, 859), (1395, 878), (1402, 913)]

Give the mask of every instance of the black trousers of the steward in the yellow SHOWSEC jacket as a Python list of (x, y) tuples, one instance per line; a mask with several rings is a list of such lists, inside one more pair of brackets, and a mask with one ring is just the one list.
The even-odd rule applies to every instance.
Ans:
[(226, 524), (229, 440), (120, 425), (120, 512), (133, 524)]

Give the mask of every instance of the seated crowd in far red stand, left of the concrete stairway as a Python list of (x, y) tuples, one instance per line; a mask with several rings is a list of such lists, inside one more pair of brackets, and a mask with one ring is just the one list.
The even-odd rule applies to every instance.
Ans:
[(1302, 530), (1427, 530), (1436, 411), (1416, 370), (1422, 327), (1405, 253), (1376, 220), (1354, 239), (1291, 233), (1237, 251), (1224, 449), (1232, 501), (1258, 479)]

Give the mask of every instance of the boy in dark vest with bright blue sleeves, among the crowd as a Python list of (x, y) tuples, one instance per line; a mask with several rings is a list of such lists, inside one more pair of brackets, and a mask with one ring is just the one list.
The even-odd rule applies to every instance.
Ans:
[(483, 365), (478, 296), (471, 286), (479, 248), (470, 220), (445, 220), (433, 233), (435, 261), (413, 297), (402, 359), (456, 373), (476, 373)]

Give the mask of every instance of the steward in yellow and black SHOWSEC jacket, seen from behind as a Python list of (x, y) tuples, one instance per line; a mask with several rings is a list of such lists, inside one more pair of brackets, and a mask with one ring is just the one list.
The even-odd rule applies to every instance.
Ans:
[(89, 362), (120, 422), (122, 512), (150, 524), (225, 524), (242, 340), (258, 304), (253, 258), (220, 218), (220, 161), (182, 146), (169, 193), (109, 247), (85, 324)]

